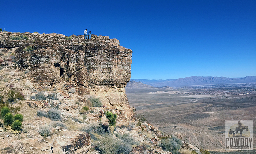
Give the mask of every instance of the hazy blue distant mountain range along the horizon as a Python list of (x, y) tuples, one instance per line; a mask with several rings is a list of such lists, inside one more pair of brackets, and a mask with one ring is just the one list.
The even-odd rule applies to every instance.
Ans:
[(256, 82), (256, 76), (246, 76), (244, 78), (191, 76), (186, 78), (167, 79), (167, 80), (131, 79), (130, 82), (132, 81), (140, 82), (142, 84), (147, 84), (153, 87), (165, 87), (165, 86), (176, 87), (176, 86), (193, 86), (193, 85), (206, 85), (206, 84), (250, 83), (250, 82)]

